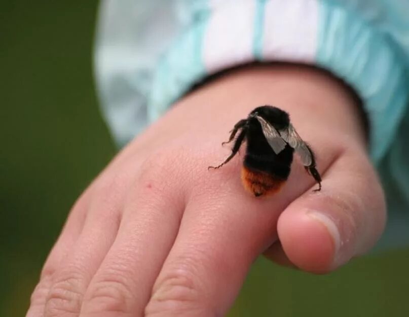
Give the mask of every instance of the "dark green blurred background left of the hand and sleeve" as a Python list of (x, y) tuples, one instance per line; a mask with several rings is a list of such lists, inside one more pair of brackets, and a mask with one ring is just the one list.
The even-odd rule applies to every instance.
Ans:
[(115, 153), (94, 93), (96, 8), (2, 2), (2, 317), (24, 316), (70, 206)]

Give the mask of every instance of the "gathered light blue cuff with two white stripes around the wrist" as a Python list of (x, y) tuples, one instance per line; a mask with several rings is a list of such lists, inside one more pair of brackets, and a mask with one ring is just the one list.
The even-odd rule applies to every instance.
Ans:
[(319, 0), (209, 1), (156, 68), (151, 120), (203, 78), (251, 61), (321, 66), (350, 84), (370, 121), (379, 161), (407, 104), (407, 71), (387, 39), (353, 11)]

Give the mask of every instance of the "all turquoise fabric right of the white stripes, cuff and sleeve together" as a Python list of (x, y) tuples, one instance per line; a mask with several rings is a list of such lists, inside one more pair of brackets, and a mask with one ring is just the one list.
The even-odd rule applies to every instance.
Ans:
[(322, 1), (319, 19), (317, 63), (357, 90), (370, 120), (389, 210), (378, 250), (409, 245), (409, 2), (400, 4), (401, 11), (384, 2)]

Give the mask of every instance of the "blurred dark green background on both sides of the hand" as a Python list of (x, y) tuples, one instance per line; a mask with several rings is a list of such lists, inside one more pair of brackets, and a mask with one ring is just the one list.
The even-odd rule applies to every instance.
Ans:
[[(0, 317), (24, 316), (73, 201), (115, 154), (98, 110), (98, 2), (3, 2)], [(326, 276), (259, 260), (231, 316), (409, 316), (409, 250)]]

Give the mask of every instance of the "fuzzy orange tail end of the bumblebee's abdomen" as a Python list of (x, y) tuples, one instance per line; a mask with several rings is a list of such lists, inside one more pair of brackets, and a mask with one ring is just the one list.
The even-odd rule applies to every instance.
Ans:
[(277, 193), (285, 182), (285, 179), (266, 172), (252, 171), (245, 166), (241, 169), (241, 180), (244, 188), (256, 197)]

